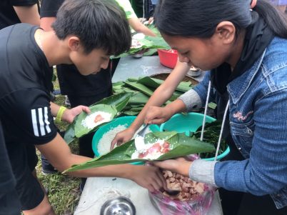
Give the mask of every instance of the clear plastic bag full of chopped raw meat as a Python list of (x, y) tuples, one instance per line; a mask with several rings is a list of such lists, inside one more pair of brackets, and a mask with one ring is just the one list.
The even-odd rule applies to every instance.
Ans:
[[(190, 156), (192, 160), (198, 156)], [(163, 171), (168, 189), (179, 190), (176, 196), (165, 191), (148, 193), (153, 206), (163, 215), (204, 215), (211, 206), (216, 189), (208, 184), (192, 181), (171, 171)]]

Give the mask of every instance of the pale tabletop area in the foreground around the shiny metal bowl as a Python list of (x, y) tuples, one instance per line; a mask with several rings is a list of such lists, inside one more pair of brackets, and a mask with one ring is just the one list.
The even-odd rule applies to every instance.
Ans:
[[(116, 196), (126, 196), (131, 199), (136, 207), (136, 215), (160, 215), (151, 204), (147, 189), (128, 179), (103, 177), (87, 179), (74, 215), (99, 215), (104, 202)], [(221, 214), (221, 203), (216, 192), (208, 215)]]

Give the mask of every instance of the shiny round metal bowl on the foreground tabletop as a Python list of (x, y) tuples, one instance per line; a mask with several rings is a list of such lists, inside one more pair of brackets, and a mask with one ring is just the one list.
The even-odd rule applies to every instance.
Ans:
[(130, 199), (119, 196), (109, 199), (101, 206), (101, 215), (135, 215), (136, 207)]

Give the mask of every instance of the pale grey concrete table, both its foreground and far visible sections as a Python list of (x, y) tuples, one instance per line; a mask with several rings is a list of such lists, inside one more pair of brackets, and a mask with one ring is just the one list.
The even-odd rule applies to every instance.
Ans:
[[(141, 59), (127, 56), (119, 61), (112, 81), (124, 81), (130, 77), (151, 76), (152, 74), (169, 72), (171, 72), (171, 69), (162, 66), (159, 63), (158, 56), (144, 56)], [(198, 76), (196, 80), (201, 81), (203, 75)], [(147, 189), (127, 179), (104, 177), (87, 179), (79, 205), (74, 214), (99, 215), (104, 202), (116, 196), (126, 196), (131, 199), (136, 206), (137, 215), (160, 214), (151, 204)], [(208, 215), (220, 214), (222, 214), (221, 203), (216, 192)]]

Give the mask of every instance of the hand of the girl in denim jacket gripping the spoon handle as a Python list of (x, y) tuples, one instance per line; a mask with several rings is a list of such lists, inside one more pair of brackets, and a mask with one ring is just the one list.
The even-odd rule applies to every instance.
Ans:
[(162, 124), (171, 118), (172, 112), (165, 107), (150, 106), (146, 111), (145, 124)]

